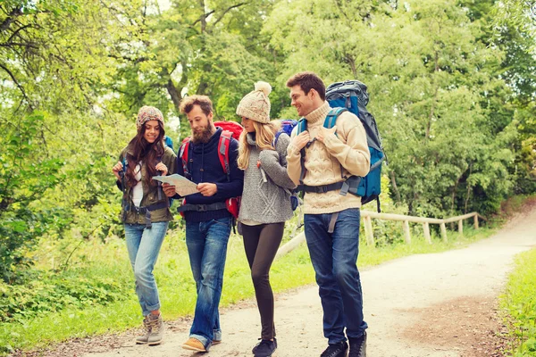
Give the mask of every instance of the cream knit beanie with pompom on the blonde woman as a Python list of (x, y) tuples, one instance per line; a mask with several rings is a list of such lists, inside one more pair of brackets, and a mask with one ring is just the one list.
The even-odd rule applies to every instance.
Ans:
[(260, 123), (270, 121), (270, 99), (272, 87), (266, 82), (256, 82), (255, 90), (242, 98), (237, 107), (237, 114)]

